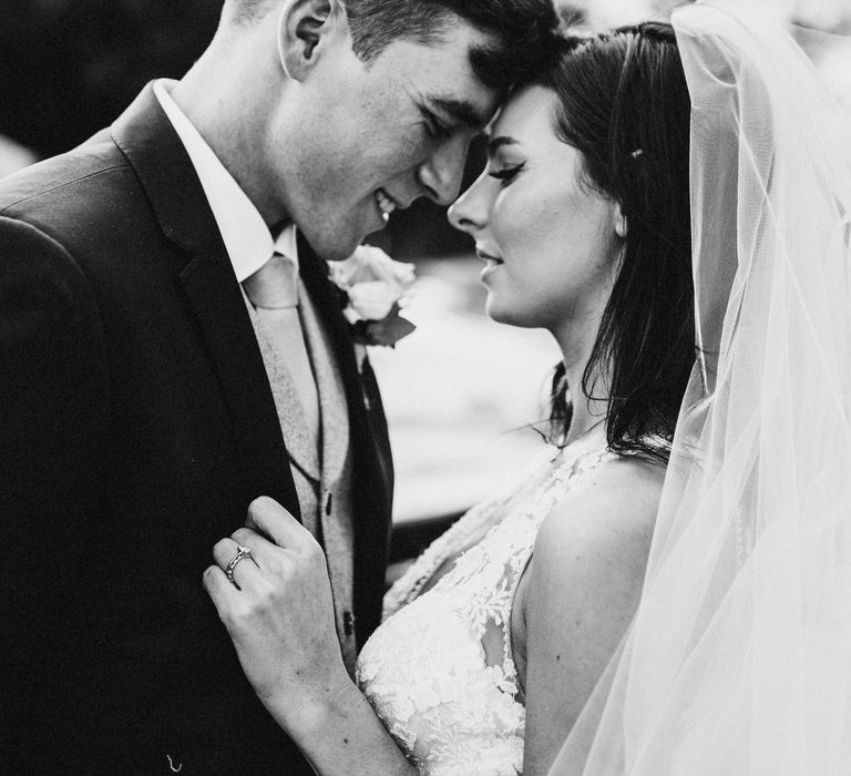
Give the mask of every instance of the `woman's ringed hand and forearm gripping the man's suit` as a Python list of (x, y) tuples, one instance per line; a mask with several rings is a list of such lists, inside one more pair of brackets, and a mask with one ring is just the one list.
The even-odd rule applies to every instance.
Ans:
[(247, 522), (216, 544), (204, 586), (259, 700), (322, 776), (416, 774), (346, 671), (321, 548), (271, 499)]

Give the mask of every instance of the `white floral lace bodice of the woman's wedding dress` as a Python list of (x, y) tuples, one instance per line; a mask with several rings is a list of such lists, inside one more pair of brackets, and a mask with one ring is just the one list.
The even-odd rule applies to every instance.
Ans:
[[(361, 651), (356, 677), (421, 773), (522, 773), (525, 711), (511, 645), (514, 592), (541, 522), (613, 457), (582, 442), (566, 448), (513, 493), (470, 510), (388, 592), (387, 619)], [(455, 555), (454, 565), (421, 593)]]

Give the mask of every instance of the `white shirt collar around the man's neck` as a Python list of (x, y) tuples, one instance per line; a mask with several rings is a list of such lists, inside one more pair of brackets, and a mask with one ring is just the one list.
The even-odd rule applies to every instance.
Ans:
[(266, 222), (247, 194), (170, 94), (175, 84), (176, 81), (171, 79), (160, 79), (154, 82), (154, 94), (195, 167), (236, 279), (242, 283), (254, 275), (273, 253), (287, 256), (298, 266), (295, 224), (288, 224), (277, 239), (273, 239)]

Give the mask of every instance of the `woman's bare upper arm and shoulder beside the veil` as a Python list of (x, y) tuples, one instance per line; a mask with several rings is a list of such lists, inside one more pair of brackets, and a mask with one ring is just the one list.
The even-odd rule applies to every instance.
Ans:
[(516, 605), (525, 622), (525, 776), (550, 769), (642, 591), (664, 469), (619, 459), (547, 515)]

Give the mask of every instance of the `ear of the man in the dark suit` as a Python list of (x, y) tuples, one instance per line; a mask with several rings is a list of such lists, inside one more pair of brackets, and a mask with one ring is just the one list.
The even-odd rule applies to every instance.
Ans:
[(339, 0), (291, 0), (280, 13), (278, 53), (289, 78), (304, 81), (340, 24), (347, 23)]

